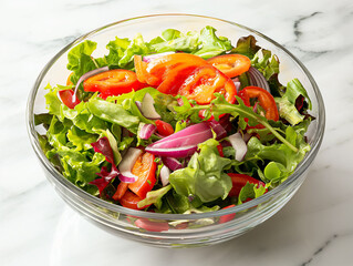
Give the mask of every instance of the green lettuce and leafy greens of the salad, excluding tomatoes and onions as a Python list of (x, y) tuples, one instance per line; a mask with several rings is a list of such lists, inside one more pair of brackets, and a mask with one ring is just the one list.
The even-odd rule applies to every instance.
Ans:
[[(134, 54), (178, 51), (209, 59), (229, 52), (240, 53), (249, 57), (252, 66), (268, 80), (271, 94), (279, 106), (280, 121), (266, 120), (253, 112), (252, 108), (246, 106), (240, 98), (237, 98), (238, 104), (230, 104), (222, 95), (217, 94), (209, 104), (198, 105), (195, 101), (181, 96), (184, 104), (179, 105), (179, 96), (160, 93), (154, 88), (102, 100), (96, 93), (85, 92), (81, 84), (79, 98), (82, 101), (74, 109), (70, 109), (60, 101), (58, 91), (72, 86), (48, 85), (45, 100), (49, 112), (35, 115), (35, 124), (42, 124), (46, 129), (46, 134), (39, 135), (39, 140), (50, 162), (82, 190), (115, 203), (111, 196), (118, 181), (113, 180), (103, 191), (90, 184), (98, 178), (97, 173), (101, 173), (103, 167), (110, 168), (111, 165), (91, 144), (107, 137), (114, 153), (114, 163), (118, 165), (128, 147), (146, 146), (158, 140), (156, 135), (142, 140), (137, 134), (142, 124), (154, 123), (146, 119), (136, 105), (136, 101), (142, 101), (144, 95), (149, 93), (162, 120), (172, 124), (176, 131), (185, 129), (189, 123), (208, 120), (211, 115), (218, 120), (225, 113), (230, 114), (232, 132), (241, 132), (247, 125), (253, 127), (248, 130), (252, 137), (247, 143), (248, 152), (243, 161), (235, 160), (236, 151), (232, 146), (226, 146), (224, 156), (220, 156), (217, 150), (220, 141), (209, 139), (199, 144), (198, 152), (183, 162), (184, 168), (170, 174), (169, 185), (162, 186), (160, 182), (157, 182), (154, 190), (141, 202), (142, 206), (153, 204), (152, 208), (162, 213), (216, 211), (235, 203), (228, 197), (232, 183), (227, 173), (255, 176), (267, 184), (266, 188), (276, 187), (288, 178), (310, 150), (304, 137), (312, 120), (307, 112), (311, 109), (310, 99), (297, 79), (290, 81), (287, 86), (280, 84), (278, 58), (256, 45), (252, 35), (239, 39), (237, 45), (232, 47), (229, 39), (217, 37), (215, 32), (211, 27), (206, 27), (200, 32), (187, 33), (168, 29), (162, 37), (149, 42), (143, 40), (141, 34), (133, 40), (116, 37), (108, 42), (108, 53), (102, 58), (92, 57), (96, 43), (86, 40), (68, 54), (68, 69), (73, 73), (71, 81), (75, 84), (84, 73), (106, 65), (110, 69), (134, 70)], [(247, 74), (239, 76), (239, 80), (242, 88), (249, 84)], [(303, 100), (303, 109), (300, 112), (295, 105), (298, 99)], [(206, 110), (205, 119), (199, 117), (200, 110)], [(257, 124), (262, 126), (256, 127)], [(158, 171), (162, 165), (159, 160)], [(248, 183), (236, 204), (258, 197), (264, 192), (264, 187)]]

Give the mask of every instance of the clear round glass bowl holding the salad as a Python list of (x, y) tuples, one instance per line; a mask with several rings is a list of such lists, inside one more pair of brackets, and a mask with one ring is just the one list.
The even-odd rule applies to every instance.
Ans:
[[(272, 51), (280, 59), (280, 81), (287, 83), (298, 78), (308, 90), (313, 105), (311, 114), (315, 116), (307, 133), (311, 151), (287, 181), (267, 194), (236, 207), (201, 214), (158, 214), (104, 202), (70, 183), (53, 167), (40, 146), (38, 140), (40, 129), (34, 125), (33, 116), (45, 112), (45, 85), (65, 83), (70, 73), (66, 63), (68, 51), (71, 48), (89, 39), (98, 43), (94, 55), (102, 57), (106, 53), (105, 44), (116, 35), (134, 38), (136, 33), (142, 33), (145, 40), (150, 40), (160, 35), (165, 29), (174, 28), (186, 32), (199, 31), (206, 25), (216, 28), (217, 34), (229, 38), (232, 44), (236, 44), (240, 37), (255, 35), (260, 47)], [(102, 27), (73, 41), (62, 49), (38, 76), (29, 96), (27, 119), (31, 144), (48, 180), (73, 209), (112, 234), (159, 247), (199, 246), (225, 242), (271, 217), (283, 207), (305, 180), (321, 145), (325, 124), (324, 104), (315, 81), (305, 66), (287, 49), (247, 27), (189, 14), (158, 14), (127, 19)]]

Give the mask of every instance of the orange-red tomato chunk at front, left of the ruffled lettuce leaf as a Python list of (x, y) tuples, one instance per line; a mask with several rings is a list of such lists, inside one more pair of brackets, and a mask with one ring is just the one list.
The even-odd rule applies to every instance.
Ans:
[(132, 173), (138, 178), (131, 183), (128, 188), (141, 198), (145, 198), (147, 192), (152, 191), (156, 184), (156, 167), (157, 164), (153, 154), (146, 152), (139, 156), (132, 170)]

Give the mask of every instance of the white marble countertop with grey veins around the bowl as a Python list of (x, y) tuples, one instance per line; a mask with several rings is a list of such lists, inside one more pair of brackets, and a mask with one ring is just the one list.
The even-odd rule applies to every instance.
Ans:
[[(299, 192), (250, 233), (211, 247), (146, 247), (94, 227), (55, 194), (25, 129), (28, 94), (61, 48), (101, 25), (166, 12), (267, 34), (302, 60), (325, 101), (325, 136)], [(351, 0), (2, 0), (0, 21), (1, 265), (353, 265)]]

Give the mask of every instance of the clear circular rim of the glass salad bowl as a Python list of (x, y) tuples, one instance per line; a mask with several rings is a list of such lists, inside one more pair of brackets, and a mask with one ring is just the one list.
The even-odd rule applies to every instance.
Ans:
[[(52, 164), (49, 162), (49, 160), (46, 158), (46, 156), (42, 152), (42, 149), (39, 144), (39, 141), (37, 137), (35, 126), (34, 126), (34, 119), (33, 119), (34, 99), (35, 99), (37, 92), (39, 90), (39, 86), (42, 82), (42, 79), (45, 76), (46, 72), (50, 70), (50, 68), (56, 62), (56, 60), (63, 53), (65, 53), (69, 49), (73, 48), (74, 45), (76, 45), (79, 42), (85, 40), (86, 38), (93, 35), (93, 34), (95, 34), (95, 33), (97, 33), (106, 28), (114, 27), (114, 25), (117, 25), (117, 24), (121, 24), (121, 23), (124, 23), (127, 21), (138, 20), (138, 19), (144, 20), (144, 19), (148, 19), (148, 18), (156, 18), (156, 17), (194, 17), (194, 18), (199, 18), (199, 19), (204, 18), (204, 19), (208, 19), (208, 20), (216, 20), (216, 21), (225, 22), (225, 23), (228, 23), (232, 27), (238, 27), (240, 29), (247, 30), (256, 35), (263, 38), (264, 40), (269, 41), (273, 45), (278, 47), (280, 50), (284, 51), (305, 73), (305, 75), (308, 76), (308, 79), (313, 88), (315, 98), (318, 100), (318, 113), (319, 113), (319, 116), (316, 117), (318, 130), (314, 132), (313, 140), (311, 142), (311, 150), (305, 155), (304, 160), (298, 165), (298, 167), (295, 168), (293, 174), (291, 176), (289, 176), (282, 184), (280, 184), (279, 186), (277, 186), (272, 191), (266, 193), (264, 195), (262, 195), (258, 198), (255, 198), (255, 200), (249, 201), (247, 203), (243, 203), (239, 206), (235, 206), (235, 207), (230, 207), (230, 208), (224, 208), (224, 209), (208, 212), (208, 213), (201, 213), (201, 214), (160, 214), (160, 213), (148, 213), (148, 212), (144, 212), (144, 211), (129, 209), (129, 208), (125, 208), (125, 207), (120, 206), (120, 205), (115, 205), (115, 204), (105, 202), (101, 198), (97, 198), (97, 197), (84, 192), (83, 190), (75, 186), (74, 184), (72, 184), (56, 168), (54, 168), (52, 166)], [(325, 127), (325, 110), (324, 110), (323, 99), (322, 99), (321, 92), (318, 88), (318, 84), (314, 81), (311, 73), (308, 71), (308, 69), (291, 52), (289, 52), (281, 44), (277, 43), (276, 41), (268, 38), (267, 35), (263, 35), (262, 33), (260, 33), (256, 30), (252, 30), (248, 27), (245, 27), (245, 25), (231, 22), (231, 21), (218, 19), (218, 18), (200, 16), (200, 14), (163, 13), (163, 14), (149, 14), (149, 16), (135, 17), (135, 18), (120, 20), (120, 21), (103, 25), (98, 29), (95, 29), (93, 31), (87, 32), (86, 34), (79, 37), (77, 39), (75, 39), (74, 41), (69, 43), (66, 47), (64, 47), (60, 52), (58, 52), (54, 55), (54, 58), (52, 58), (45, 64), (45, 66), (43, 68), (43, 70), (39, 74), (39, 76), (37, 78), (34, 85), (29, 94), (29, 100), (28, 100), (28, 105), (27, 105), (27, 127), (28, 127), (28, 133), (29, 133), (29, 137), (30, 137), (31, 144), (32, 144), (32, 147), (33, 147), (38, 158), (42, 163), (42, 165), (62, 186), (64, 186), (66, 190), (74, 193), (76, 196), (83, 198), (84, 201), (89, 201), (92, 204), (95, 204), (96, 206), (107, 208), (112, 212), (117, 212), (117, 213), (122, 213), (125, 215), (133, 215), (133, 216), (138, 216), (138, 217), (144, 217), (144, 218), (168, 219), (168, 221), (199, 219), (199, 218), (207, 218), (207, 217), (219, 217), (221, 215), (227, 215), (227, 214), (237, 213), (237, 212), (241, 212), (241, 211), (251, 208), (253, 206), (257, 206), (257, 205), (270, 200), (272, 196), (276, 196), (282, 190), (285, 190), (288, 186), (290, 186), (292, 183), (294, 183), (305, 172), (305, 170), (310, 166), (310, 164), (314, 160), (314, 157), (320, 149), (320, 145), (321, 145), (321, 142), (323, 139), (324, 127)]]

